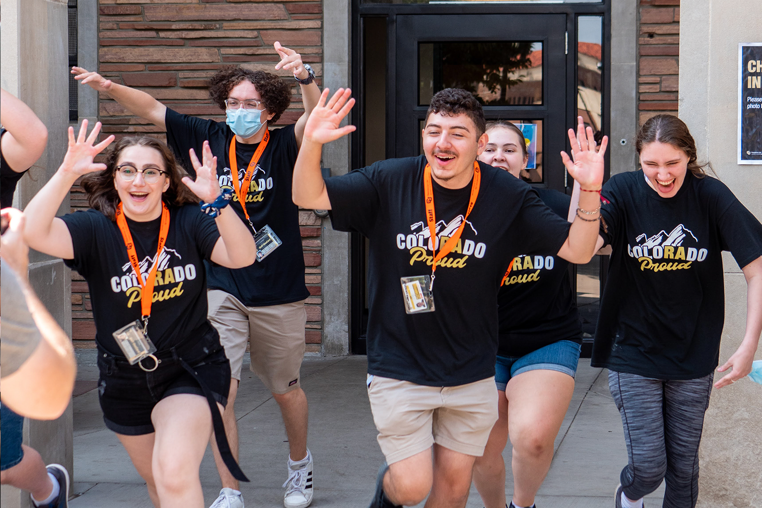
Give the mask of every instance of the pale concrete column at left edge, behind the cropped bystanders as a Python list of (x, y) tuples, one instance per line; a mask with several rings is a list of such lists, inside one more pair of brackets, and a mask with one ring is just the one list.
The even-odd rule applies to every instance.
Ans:
[[(23, 208), (55, 173), (66, 151), (69, 126), (66, 0), (2, 0), (2, 87), (21, 98), (48, 129), (48, 146), (21, 178), (14, 206)], [(69, 211), (69, 200), (60, 212)], [(31, 251), (29, 280), (50, 314), (71, 336), (71, 276), (61, 260)], [(58, 420), (27, 420), (24, 443), (46, 463), (73, 467), (72, 406)], [(2, 487), (3, 508), (31, 506), (27, 493)]]

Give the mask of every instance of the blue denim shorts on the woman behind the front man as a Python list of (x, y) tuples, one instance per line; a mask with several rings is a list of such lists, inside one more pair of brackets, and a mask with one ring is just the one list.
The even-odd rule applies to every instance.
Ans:
[(514, 375), (530, 370), (557, 370), (571, 375), (577, 373), (581, 347), (571, 340), (559, 340), (524, 356), (499, 356), (495, 363), (495, 385), (505, 391), (505, 385)]

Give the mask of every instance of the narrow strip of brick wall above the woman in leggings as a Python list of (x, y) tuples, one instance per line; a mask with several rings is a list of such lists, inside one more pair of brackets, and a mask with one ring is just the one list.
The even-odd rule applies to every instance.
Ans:
[(677, 115), (680, 1), (640, 0), (639, 121), (658, 113)]

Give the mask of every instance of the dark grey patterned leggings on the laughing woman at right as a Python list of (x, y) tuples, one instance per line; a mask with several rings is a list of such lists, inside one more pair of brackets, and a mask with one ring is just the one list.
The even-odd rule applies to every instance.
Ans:
[(699, 443), (714, 374), (685, 381), (609, 372), (622, 415), (629, 464), (620, 481), (636, 500), (667, 482), (664, 508), (693, 508), (699, 495)]

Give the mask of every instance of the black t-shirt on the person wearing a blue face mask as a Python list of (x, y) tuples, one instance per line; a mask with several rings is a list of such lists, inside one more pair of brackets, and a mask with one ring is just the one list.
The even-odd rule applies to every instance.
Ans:
[[(229, 148), (232, 130), (223, 122), (190, 117), (167, 108), (167, 144), (191, 176), (195, 177), (188, 155), (194, 149), (201, 157), (201, 147), (209, 140), (217, 157), (219, 187), (231, 189)], [(235, 142), (235, 160), (239, 167), (239, 182), (259, 143), (246, 145)], [(262, 261), (245, 268), (231, 269), (207, 262), (210, 289), (222, 289), (250, 307), (298, 302), (309, 296), (304, 283), (304, 254), (299, 233), (299, 207), (291, 200), (293, 166), (296, 164), (296, 136), (293, 124), (270, 131), (267, 149), (262, 152), (258, 168), (251, 178), (246, 209), (254, 227), (269, 225), (283, 244)], [(230, 202), (241, 220), (246, 220), (238, 197)], [(253, 234), (253, 232), (252, 232)]]

